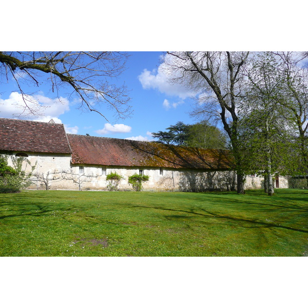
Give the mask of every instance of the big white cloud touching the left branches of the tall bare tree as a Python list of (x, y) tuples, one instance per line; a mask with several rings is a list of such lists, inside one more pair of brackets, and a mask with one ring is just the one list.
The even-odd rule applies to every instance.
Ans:
[(168, 83), (168, 77), (162, 70), (162, 67), (163, 64), (160, 65), (157, 71), (149, 71), (147, 69), (143, 70), (143, 72), (138, 76), (143, 89), (157, 89), (161, 93), (176, 96), (182, 100), (195, 95), (194, 92), (187, 90), (182, 85)]

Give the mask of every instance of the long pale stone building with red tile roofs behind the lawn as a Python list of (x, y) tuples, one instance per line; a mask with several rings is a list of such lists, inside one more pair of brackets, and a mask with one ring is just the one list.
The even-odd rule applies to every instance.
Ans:
[[(107, 190), (110, 172), (122, 176), (122, 190), (132, 189), (128, 177), (136, 173), (149, 176), (144, 190), (229, 190), (236, 186), (227, 150), (67, 134), (63, 124), (53, 121), (0, 118), (0, 153), (27, 157), (35, 165), (30, 189)], [(282, 177), (277, 183), (287, 187)], [(260, 187), (260, 178), (247, 177), (245, 188)]]

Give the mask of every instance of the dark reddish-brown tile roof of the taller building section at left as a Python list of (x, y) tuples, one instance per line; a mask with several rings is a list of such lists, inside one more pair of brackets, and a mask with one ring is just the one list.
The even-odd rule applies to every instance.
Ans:
[(0, 118), (0, 150), (70, 153), (63, 124)]

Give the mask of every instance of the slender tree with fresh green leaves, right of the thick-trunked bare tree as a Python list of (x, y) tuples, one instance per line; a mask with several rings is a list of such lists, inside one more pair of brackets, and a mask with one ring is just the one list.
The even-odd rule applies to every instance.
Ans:
[(247, 92), (240, 107), (239, 136), (246, 172), (264, 175), (265, 191), (274, 194), (274, 174), (294, 170), (295, 147), (290, 134), (292, 123), (281, 107), (283, 78), (271, 52), (255, 55), (247, 69)]

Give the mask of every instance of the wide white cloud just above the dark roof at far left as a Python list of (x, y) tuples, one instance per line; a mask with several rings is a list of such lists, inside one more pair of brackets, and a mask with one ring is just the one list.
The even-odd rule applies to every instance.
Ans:
[[(53, 119), (61, 123), (57, 117), (69, 110), (69, 101), (65, 98), (50, 99), (42, 94), (23, 95), (12, 92), (6, 100), (0, 98), (0, 117), (46, 122)], [(59, 122), (60, 121), (60, 122)]]

